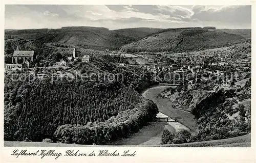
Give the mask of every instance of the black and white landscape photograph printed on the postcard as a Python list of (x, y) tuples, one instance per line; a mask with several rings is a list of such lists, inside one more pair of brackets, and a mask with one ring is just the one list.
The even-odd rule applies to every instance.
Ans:
[(251, 10), (5, 5), (4, 146), (251, 147)]

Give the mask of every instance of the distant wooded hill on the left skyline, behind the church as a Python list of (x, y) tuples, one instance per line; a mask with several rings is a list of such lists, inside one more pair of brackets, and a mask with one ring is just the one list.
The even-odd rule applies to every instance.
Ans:
[(60, 43), (64, 45), (83, 45), (84, 48), (118, 49), (124, 44), (140, 40), (161, 29), (132, 28), (109, 30), (90, 26), (63, 27), (61, 29), (31, 29), (5, 31), (5, 36), (16, 36), (42, 43)]

